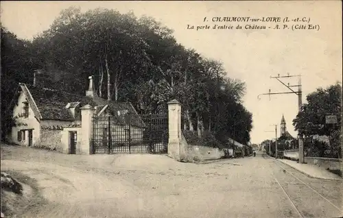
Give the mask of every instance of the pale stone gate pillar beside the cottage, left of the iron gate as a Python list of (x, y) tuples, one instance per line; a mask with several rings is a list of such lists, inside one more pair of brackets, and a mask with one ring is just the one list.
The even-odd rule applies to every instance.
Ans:
[(95, 109), (89, 104), (83, 106), (81, 109), (81, 154), (92, 154), (93, 148), (91, 140), (93, 139), (93, 115)]

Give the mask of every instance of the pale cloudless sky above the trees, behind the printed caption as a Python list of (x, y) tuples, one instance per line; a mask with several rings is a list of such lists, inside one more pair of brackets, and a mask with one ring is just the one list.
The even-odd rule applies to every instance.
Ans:
[[(244, 106), (252, 112), (251, 143), (279, 137), (281, 117), (287, 131), (296, 137), (292, 120), (298, 113), (296, 94), (270, 76), (302, 75), (303, 103), (316, 88), (342, 83), (342, 5), (341, 1), (2, 1), (1, 23), (19, 38), (32, 39), (49, 29), (60, 11), (70, 6), (82, 12), (109, 8), (136, 16), (152, 16), (174, 30), (178, 43), (193, 48), (206, 58), (224, 64), (227, 76), (246, 83)], [(272, 22), (213, 22), (213, 17), (280, 17)], [(204, 18), (206, 17), (206, 21)], [(309, 23), (283, 19), (304, 17)], [(240, 24), (243, 29), (235, 29)], [(267, 29), (244, 29), (245, 25), (265, 25)], [(273, 29), (279, 24), (281, 29)], [(315, 29), (294, 29), (292, 25), (316, 25)], [(194, 25), (195, 29), (187, 29)], [(210, 29), (198, 29), (209, 25)], [(213, 25), (233, 25), (233, 29), (212, 29)], [(271, 27), (271, 29), (268, 29)], [(308, 26), (307, 26), (308, 27)], [(319, 27), (319, 28), (318, 28)], [(298, 85), (298, 77), (281, 78)], [(294, 87), (295, 89), (297, 87)]]

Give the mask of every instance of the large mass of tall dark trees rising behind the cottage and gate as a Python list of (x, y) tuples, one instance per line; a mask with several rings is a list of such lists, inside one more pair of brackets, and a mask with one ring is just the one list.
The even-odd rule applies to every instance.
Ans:
[(41, 69), (36, 85), (79, 95), (94, 75), (100, 97), (130, 101), (139, 113), (166, 112), (167, 102), (177, 99), (182, 114), (188, 114), (185, 130), (213, 132), (221, 143), (227, 137), (248, 143), (252, 114), (242, 105), (244, 82), (228, 77), (221, 62), (177, 43), (172, 34), (151, 17), (74, 7), (62, 10), (32, 42), (1, 28), (1, 111), (19, 82), (32, 84), (36, 69)]

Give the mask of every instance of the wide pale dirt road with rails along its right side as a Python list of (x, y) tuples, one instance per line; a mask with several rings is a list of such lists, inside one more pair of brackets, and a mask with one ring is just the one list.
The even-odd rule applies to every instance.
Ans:
[(163, 155), (1, 147), (1, 171), (36, 179), (46, 204), (21, 217), (340, 217), (342, 182), (263, 154), (195, 165)]

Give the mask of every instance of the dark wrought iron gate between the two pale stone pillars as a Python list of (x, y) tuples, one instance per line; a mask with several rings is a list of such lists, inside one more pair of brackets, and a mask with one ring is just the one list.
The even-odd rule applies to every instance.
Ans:
[(91, 143), (93, 154), (167, 153), (167, 114), (93, 117)]

